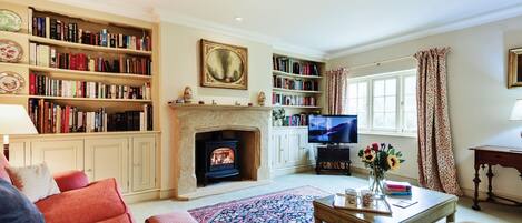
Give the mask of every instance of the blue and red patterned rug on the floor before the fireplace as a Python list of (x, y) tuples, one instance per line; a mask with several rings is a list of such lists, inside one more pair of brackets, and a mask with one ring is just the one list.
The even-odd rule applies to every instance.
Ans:
[(312, 201), (329, 193), (313, 186), (289, 189), (188, 211), (200, 223), (314, 222)]

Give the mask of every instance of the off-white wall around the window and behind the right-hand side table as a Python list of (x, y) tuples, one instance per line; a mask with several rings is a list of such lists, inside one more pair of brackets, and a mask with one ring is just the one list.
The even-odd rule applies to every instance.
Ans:
[[(522, 146), (522, 122), (508, 121), (511, 108), (522, 98), (522, 88), (506, 88), (508, 49), (522, 47), (522, 17), (490, 24), (422, 38), (327, 61), (329, 68), (353, 67), (413, 55), (433, 47), (451, 47), (447, 57), (450, 119), (460, 184), (473, 189), (473, 152), (470, 146), (496, 144)], [(413, 59), (381, 67), (354, 70), (352, 75), (390, 72), (415, 68)], [(405, 153), (406, 170), (401, 175), (417, 178), (416, 139), (362, 136), (361, 146), (371, 141), (392, 142)], [(514, 169), (494, 168), (494, 189), (499, 194), (520, 197), (522, 180)], [(482, 173), (482, 180), (485, 175)], [(481, 184), (485, 191), (485, 183)]]

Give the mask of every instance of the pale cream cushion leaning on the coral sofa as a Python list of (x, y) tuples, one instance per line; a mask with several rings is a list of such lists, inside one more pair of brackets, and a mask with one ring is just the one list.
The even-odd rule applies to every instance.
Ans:
[(6, 169), (12, 184), (31, 202), (60, 193), (51, 172), (46, 163), (29, 166), (9, 166)]

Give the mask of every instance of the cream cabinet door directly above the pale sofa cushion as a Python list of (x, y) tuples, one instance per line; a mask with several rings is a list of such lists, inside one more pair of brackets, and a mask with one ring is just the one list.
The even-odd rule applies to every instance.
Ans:
[(83, 140), (52, 140), (31, 143), (31, 164), (46, 162), (51, 173), (83, 170)]

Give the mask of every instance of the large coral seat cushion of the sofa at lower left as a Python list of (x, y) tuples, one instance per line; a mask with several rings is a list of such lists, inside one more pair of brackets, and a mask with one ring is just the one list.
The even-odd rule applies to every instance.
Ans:
[(91, 223), (128, 213), (115, 179), (95, 182), (36, 203), (46, 222)]

